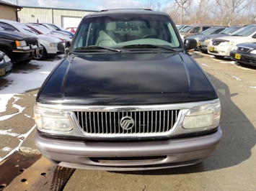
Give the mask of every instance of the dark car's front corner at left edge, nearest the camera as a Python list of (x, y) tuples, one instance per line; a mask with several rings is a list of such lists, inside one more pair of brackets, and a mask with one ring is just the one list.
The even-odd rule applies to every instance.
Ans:
[(0, 78), (4, 78), (10, 73), (12, 73), (12, 60), (0, 51)]

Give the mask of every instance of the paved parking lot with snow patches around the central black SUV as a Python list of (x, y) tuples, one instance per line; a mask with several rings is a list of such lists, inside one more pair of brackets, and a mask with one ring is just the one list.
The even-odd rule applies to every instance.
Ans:
[[(256, 189), (256, 68), (200, 52), (195, 52), (194, 57), (208, 73), (221, 100), (224, 135), (216, 152), (201, 164), (175, 169), (142, 172), (76, 169), (63, 190)], [(35, 95), (59, 60), (61, 57), (15, 65), (13, 73), (0, 80), (0, 164), (17, 151), (37, 153), (33, 143)]]

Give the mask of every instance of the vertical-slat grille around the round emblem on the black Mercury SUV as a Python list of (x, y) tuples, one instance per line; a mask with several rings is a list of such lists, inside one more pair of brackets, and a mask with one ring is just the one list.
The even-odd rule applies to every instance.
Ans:
[[(179, 110), (74, 113), (79, 126), (87, 134), (161, 134), (172, 129)], [(133, 126), (122, 128), (122, 118), (132, 118)]]

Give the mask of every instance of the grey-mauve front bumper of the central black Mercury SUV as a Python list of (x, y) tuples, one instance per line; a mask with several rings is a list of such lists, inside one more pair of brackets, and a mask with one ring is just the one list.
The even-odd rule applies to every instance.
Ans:
[(182, 167), (202, 162), (221, 140), (214, 134), (167, 141), (89, 142), (53, 139), (36, 133), (35, 144), (44, 157), (62, 167), (133, 171)]

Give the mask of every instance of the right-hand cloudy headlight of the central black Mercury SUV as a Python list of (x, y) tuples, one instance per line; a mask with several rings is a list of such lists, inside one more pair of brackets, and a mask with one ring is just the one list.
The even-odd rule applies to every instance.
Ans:
[(221, 103), (205, 104), (195, 106), (187, 111), (183, 121), (184, 129), (211, 129), (219, 125), (221, 118)]

